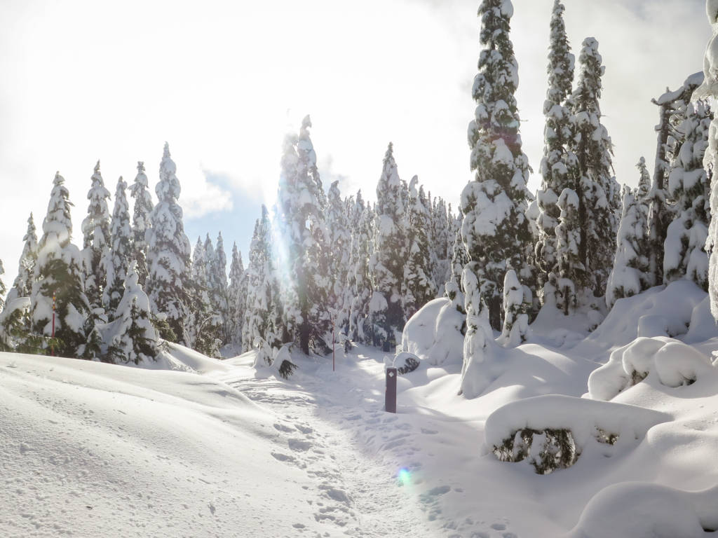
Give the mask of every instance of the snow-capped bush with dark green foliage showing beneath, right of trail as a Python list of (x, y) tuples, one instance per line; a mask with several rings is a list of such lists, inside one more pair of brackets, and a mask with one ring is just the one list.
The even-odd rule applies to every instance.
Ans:
[[(538, 474), (569, 468), (595, 445), (629, 448), (668, 413), (563, 395), (510, 402), (486, 419), (485, 446), (500, 461), (526, 461)], [(618, 446), (620, 443), (620, 447)]]

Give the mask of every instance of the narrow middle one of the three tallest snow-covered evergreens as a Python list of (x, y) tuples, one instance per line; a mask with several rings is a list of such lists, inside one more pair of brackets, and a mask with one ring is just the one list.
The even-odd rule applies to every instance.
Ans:
[(575, 166), (575, 157), (567, 150), (572, 132), (571, 113), (566, 105), (574, 80), (574, 55), (570, 52), (564, 11), (561, 0), (554, 0), (547, 69), (549, 89), (544, 101), (544, 158), (541, 159), (541, 188), (536, 193), (538, 241), (535, 256), (539, 268), (539, 291), (544, 301), (544, 284), (554, 280), (551, 286), (556, 288), (556, 226), (559, 225), (561, 217), (559, 196), (565, 188), (573, 187), (569, 168)]

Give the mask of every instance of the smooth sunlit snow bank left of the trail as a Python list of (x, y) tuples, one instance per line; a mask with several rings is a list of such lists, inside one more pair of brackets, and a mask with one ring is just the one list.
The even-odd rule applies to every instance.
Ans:
[(0, 353), (0, 395), (1, 536), (287, 536), (309, 519), (307, 476), (271, 455), (276, 417), (207, 376)]

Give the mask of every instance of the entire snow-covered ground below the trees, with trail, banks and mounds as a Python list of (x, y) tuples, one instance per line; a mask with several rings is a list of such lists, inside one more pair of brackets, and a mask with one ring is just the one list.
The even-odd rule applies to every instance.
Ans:
[[(180, 346), (167, 364), (185, 371), (0, 354), (0, 536), (714, 535), (718, 331), (704, 298), (654, 288), (589, 336), (544, 313), (527, 344), (497, 346), (473, 400), (457, 394), (460, 348), (434, 304), (419, 325), (444, 329), (412, 349), (441, 357), (417, 353), (396, 415), (384, 356), (364, 347), (334, 372), (331, 357), (294, 357), (289, 381), (253, 354)], [(534, 447), (569, 429), (574, 464), (538, 474), (535, 449), (499, 461), (494, 446), (526, 428)]]

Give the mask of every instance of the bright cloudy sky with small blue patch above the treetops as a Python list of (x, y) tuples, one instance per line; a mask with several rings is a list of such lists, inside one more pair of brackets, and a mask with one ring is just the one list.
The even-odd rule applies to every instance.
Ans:
[[(106, 186), (145, 162), (154, 195), (164, 141), (192, 245), (219, 230), (246, 263), (271, 204), (281, 141), (311, 114), (325, 186), (376, 199), (386, 145), (399, 174), (452, 202), (471, 179), (467, 123), (480, 51), (477, 0), (0, 2), (0, 258), (17, 274), (25, 220), (38, 235), (59, 170), (74, 240), (95, 161)], [(513, 0), (523, 148), (538, 170), (553, 0)], [(651, 98), (701, 70), (703, 0), (564, 0), (572, 49), (596, 37), (618, 181), (652, 163)], [(532, 191), (540, 184), (534, 174)], [(112, 202), (111, 202), (112, 203)], [(111, 210), (111, 207), (110, 207)]]

